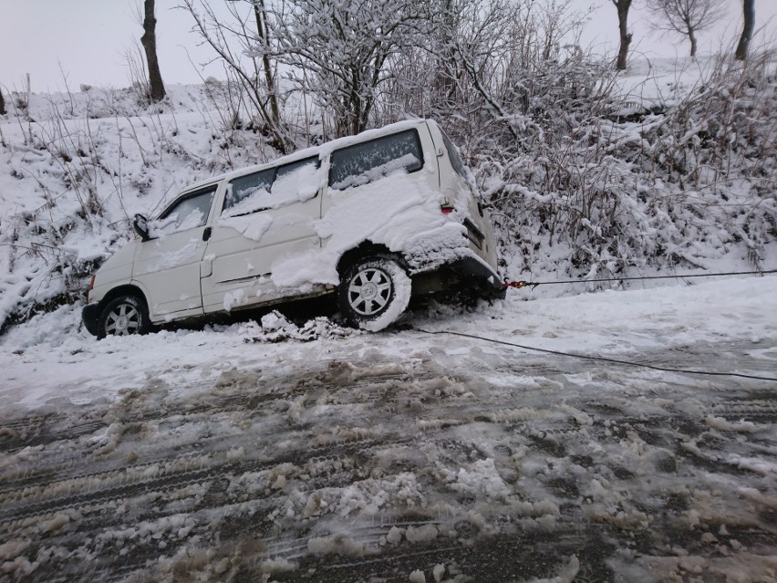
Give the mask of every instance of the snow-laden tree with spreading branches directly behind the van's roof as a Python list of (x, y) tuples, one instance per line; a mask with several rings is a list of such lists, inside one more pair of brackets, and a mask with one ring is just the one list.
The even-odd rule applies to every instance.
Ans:
[[(289, 79), (333, 115), (337, 136), (368, 127), (387, 61), (416, 46), (429, 26), (419, 0), (296, 0), (267, 20), (278, 46), (258, 39), (252, 54), (289, 66)], [(268, 9), (272, 13), (275, 8)], [(268, 53), (269, 51), (269, 53)]]

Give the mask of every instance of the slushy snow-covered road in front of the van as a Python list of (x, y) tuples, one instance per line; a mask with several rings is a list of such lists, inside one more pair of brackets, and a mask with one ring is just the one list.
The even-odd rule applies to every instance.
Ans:
[[(775, 288), (508, 301), (413, 324), (773, 377)], [(252, 329), (7, 339), (0, 579), (777, 574), (777, 383), (410, 329), (243, 342)], [(574, 344), (558, 338), (570, 329)]]

